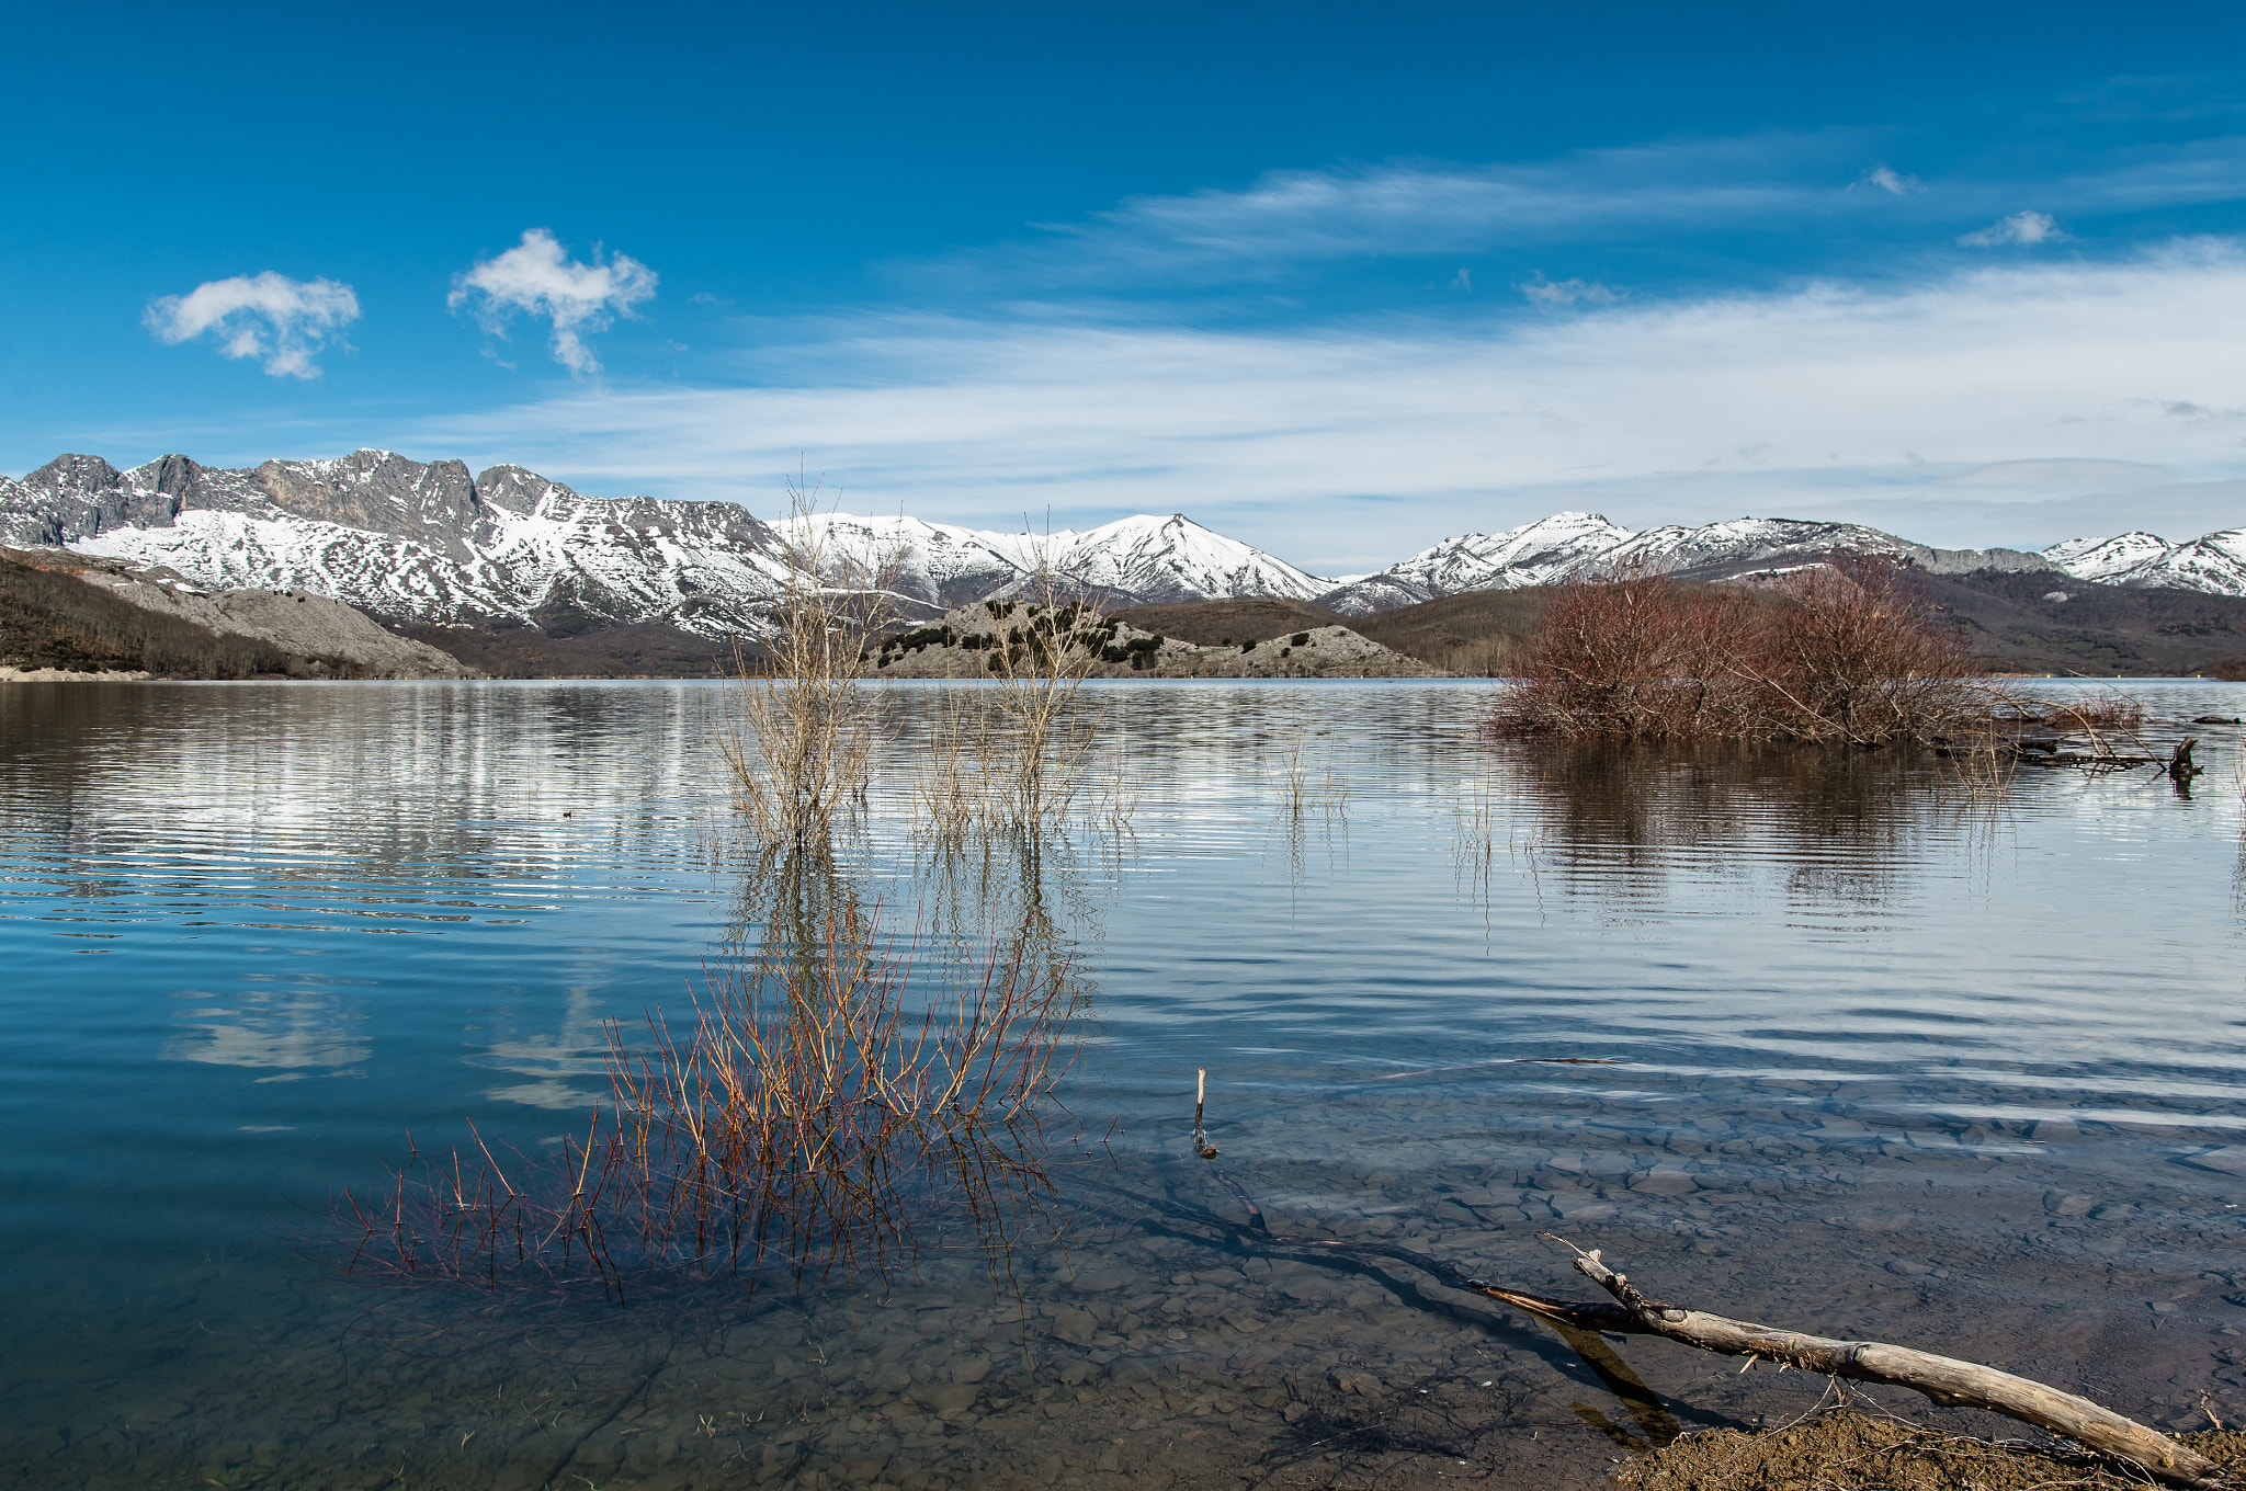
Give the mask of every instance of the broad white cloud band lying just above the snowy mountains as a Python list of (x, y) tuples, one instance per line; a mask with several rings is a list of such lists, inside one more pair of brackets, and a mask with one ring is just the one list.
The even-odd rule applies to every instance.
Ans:
[[(2233, 240), (1563, 319), (1258, 332), (865, 317), (768, 328), (759, 364), (791, 386), (579, 391), (413, 438), (591, 492), (759, 510), (802, 456), (867, 512), (1015, 525), (1051, 505), (1056, 525), (1085, 525), (1186, 510), (1282, 557), (1363, 552), (1368, 528), (1404, 555), (1559, 507), (1889, 519), (1936, 543), (2021, 543), (2087, 530), (2093, 510), (2138, 525), (2143, 472), (1936, 481), (2015, 460), (2246, 476), (2235, 429), (2167, 413), (2233, 397), (2235, 350), (2208, 328), (2239, 321)], [(2107, 496), (2064, 498), (2066, 525), (2044, 532), (2037, 474), (2066, 476), (2046, 492)]]

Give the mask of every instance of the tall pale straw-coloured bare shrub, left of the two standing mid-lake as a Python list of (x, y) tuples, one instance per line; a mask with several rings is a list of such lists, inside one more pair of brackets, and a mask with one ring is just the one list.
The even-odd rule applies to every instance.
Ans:
[(818, 487), (788, 483), (782, 593), (770, 665), (739, 671), (716, 723), (719, 754), (746, 826), (768, 844), (811, 842), (862, 802), (887, 741), (865, 687), (869, 638), (896, 615), (894, 555), (858, 559), (829, 543)]

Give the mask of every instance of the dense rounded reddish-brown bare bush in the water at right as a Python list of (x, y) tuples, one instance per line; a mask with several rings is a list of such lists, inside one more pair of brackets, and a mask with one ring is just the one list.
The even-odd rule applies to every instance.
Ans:
[(1835, 557), (1763, 593), (1624, 573), (1565, 586), (1496, 734), (1882, 743), (1985, 732), (2010, 696), (1891, 564)]

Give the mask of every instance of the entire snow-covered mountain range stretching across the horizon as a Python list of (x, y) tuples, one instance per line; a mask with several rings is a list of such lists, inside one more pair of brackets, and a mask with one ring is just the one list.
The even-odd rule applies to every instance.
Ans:
[(463, 460), (420, 463), (382, 449), (238, 469), (189, 456), (130, 469), (101, 456), (58, 456), (20, 481), (0, 478), (0, 543), (168, 566), (209, 588), (312, 591), (400, 622), (528, 624), (559, 638), (633, 624), (764, 635), (797, 555), (813, 555), (829, 584), (851, 584), (894, 557), (905, 620), (1015, 600), (1053, 575), (1119, 606), (1271, 595), (1366, 618), (1604, 568), (1734, 579), (1835, 550), (1887, 555), (1932, 575), (2048, 570), (2055, 579), (2246, 595), (2246, 528), (2181, 543), (2127, 532), (2028, 552), (1934, 548), (1813, 519), (1633, 532), (1595, 512), (1556, 512), (1496, 534), (1442, 539), (1381, 573), (1336, 582), (1184, 514), (1049, 534), (844, 512), (759, 519), (730, 501), (600, 498), (519, 465), (472, 474)]

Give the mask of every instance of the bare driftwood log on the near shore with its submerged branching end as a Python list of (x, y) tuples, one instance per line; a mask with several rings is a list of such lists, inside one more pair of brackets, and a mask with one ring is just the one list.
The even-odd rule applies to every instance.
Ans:
[[(1208, 1177), (1240, 1201), (1249, 1217), (1247, 1226), (1197, 1206), (1170, 1201), (1168, 1197), (1150, 1197), (1121, 1186), (1110, 1186), (1105, 1181), (1089, 1181), (1089, 1186), (1116, 1197), (1127, 1197), (1177, 1219), (1215, 1226), (1231, 1233), (1233, 1240), (1244, 1246), (1294, 1253), (1298, 1257), (1393, 1260), (1428, 1273), (1449, 1289), (1500, 1300), (1563, 1329), (1613, 1332), (1622, 1336), (1662, 1336), (1667, 1341), (1698, 1347), (1702, 1352), (1718, 1352), (1723, 1356), (1750, 1356), (1799, 1367), (1804, 1372), (1846, 1376), (1860, 1383), (1909, 1388), (1911, 1392), (1927, 1394), (1927, 1399), (1941, 1403), (1943, 1408), (1985, 1408), (1990, 1412), (2019, 1419), (2021, 1424), (2048, 1428), (2051, 1433), (2064, 1435), (2100, 1455), (2129, 1462), (2170, 1487), (2221, 1491), (2230, 1484), (2224, 1480), (2221, 1466), (2176, 1444), (2167, 1435), (2147, 1428), (2136, 1419), (2125, 1419), (2109, 1408), (2100, 1408), (2084, 1397), (2060, 1392), (2057, 1388), (2026, 1376), (2012, 1376), (2010, 1372), (1983, 1367), (1972, 1361), (1936, 1356), (1934, 1352), (1887, 1345), (1882, 1341), (1833, 1341), (1828, 1336), (1806, 1336), (1777, 1325), (1756, 1325), (1752, 1320), (1711, 1316), (1700, 1309), (1658, 1305), (1640, 1293), (1626, 1275), (1608, 1269), (1597, 1248), (1590, 1253), (1577, 1248), (1574, 1266), (1615, 1296), (1613, 1305), (1552, 1300), (1525, 1289), (1507, 1289), (1482, 1278), (1471, 1278), (1467, 1269), (1446, 1257), (1433, 1257), (1393, 1242), (1273, 1233), (1262, 1208), (1256, 1206), (1256, 1199), (1247, 1192), (1247, 1188), (1208, 1163), (1215, 1156), (1215, 1147), (1202, 1129), (1199, 1100), (1195, 1103), (1193, 1127), (1193, 1145), (1199, 1152)], [(1572, 1248), (1574, 1244), (1568, 1246)]]

